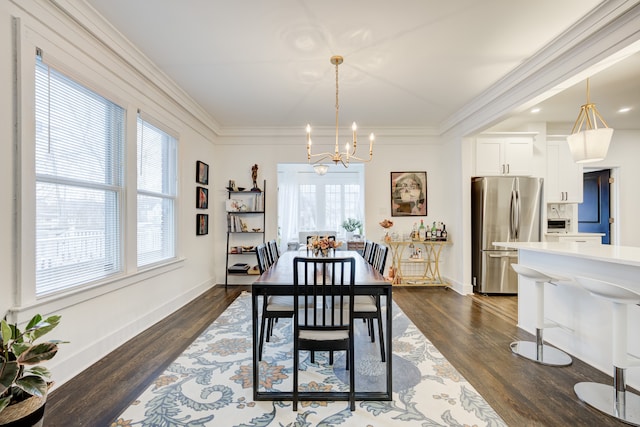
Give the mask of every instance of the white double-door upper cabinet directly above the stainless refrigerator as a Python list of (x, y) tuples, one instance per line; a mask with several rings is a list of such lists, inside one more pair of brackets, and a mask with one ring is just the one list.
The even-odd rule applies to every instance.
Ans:
[(490, 133), (476, 139), (476, 176), (533, 174), (535, 132)]

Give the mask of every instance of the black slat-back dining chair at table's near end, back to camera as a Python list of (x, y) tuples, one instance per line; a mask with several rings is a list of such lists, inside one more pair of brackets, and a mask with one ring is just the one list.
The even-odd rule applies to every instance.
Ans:
[[(293, 410), (300, 400), (348, 400), (355, 410), (355, 366), (353, 340), (353, 307), (355, 292), (355, 259), (306, 258), (293, 260), (295, 304), (305, 308), (296, 310), (293, 322)], [(316, 304), (305, 305), (312, 297)], [(328, 351), (333, 364), (334, 351), (346, 351), (345, 364), (349, 371), (349, 391), (298, 390), (300, 352)], [(313, 362), (312, 362), (313, 363)]]

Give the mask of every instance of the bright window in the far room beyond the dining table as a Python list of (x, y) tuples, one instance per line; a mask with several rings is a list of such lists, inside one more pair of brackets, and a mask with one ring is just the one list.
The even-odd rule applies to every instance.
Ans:
[(307, 164), (278, 165), (278, 228), (283, 242), (297, 241), (302, 231), (335, 231), (342, 222), (364, 222), (364, 166), (330, 167), (317, 175)]

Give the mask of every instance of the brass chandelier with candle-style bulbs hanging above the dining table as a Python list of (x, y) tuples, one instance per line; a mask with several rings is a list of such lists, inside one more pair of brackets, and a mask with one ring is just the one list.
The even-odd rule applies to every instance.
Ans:
[(327, 165), (322, 164), (323, 161), (332, 161), (336, 165), (341, 163), (345, 168), (349, 167), (349, 162), (351, 161), (360, 161), (360, 162), (369, 162), (373, 158), (373, 140), (375, 139), (373, 133), (369, 135), (369, 158), (363, 159), (356, 156), (356, 149), (358, 144), (358, 138), (356, 131), (358, 130), (358, 126), (356, 122), (353, 122), (351, 125), (351, 131), (353, 133), (353, 141), (347, 142), (344, 145), (344, 151), (340, 151), (339, 145), (339, 132), (338, 132), (338, 111), (340, 109), (340, 104), (338, 102), (338, 65), (342, 64), (344, 58), (342, 56), (332, 56), (331, 63), (336, 66), (336, 145), (332, 152), (324, 152), (318, 154), (311, 154), (311, 126), (307, 124), (307, 160), (309, 164), (312, 164), (311, 159), (317, 158), (313, 162), (313, 167), (318, 173), (318, 175), (324, 175), (327, 173), (329, 167)]

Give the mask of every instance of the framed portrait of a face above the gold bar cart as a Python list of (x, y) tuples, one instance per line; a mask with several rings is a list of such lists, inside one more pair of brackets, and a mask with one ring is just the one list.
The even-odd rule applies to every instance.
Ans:
[(426, 172), (391, 172), (391, 216), (427, 216)]

